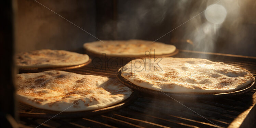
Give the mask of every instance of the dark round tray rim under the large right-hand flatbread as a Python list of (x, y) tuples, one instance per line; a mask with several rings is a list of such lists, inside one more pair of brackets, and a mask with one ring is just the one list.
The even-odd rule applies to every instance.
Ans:
[(241, 95), (246, 92), (249, 92), (254, 89), (255, 87), (255, 78), (253, 78), (253, 81), (251, 84), (244, 86), (236, 91), (233, 92), (226, 92), (226, 93), (170, 93), (170, 92), (161, 92), (161, 91), (155, 91), (143, 87), (139, 87), (132, 82), (128, 81), (124, 77), (121, 76), (121, 68), (117, 72), (117, 79), (126, 85), (127, 87), (133, 89), (133, 90), (138, 90), (150, 95), (158, 95), (158, 96), (164, 96), (164, 97), (175, 97), (175, 98), (196, 98), (196, 99), (207, 99), (207, 98), (221, 98), (221, 97), (229, 97), (229, 96), (235, 96), (235, 95)]

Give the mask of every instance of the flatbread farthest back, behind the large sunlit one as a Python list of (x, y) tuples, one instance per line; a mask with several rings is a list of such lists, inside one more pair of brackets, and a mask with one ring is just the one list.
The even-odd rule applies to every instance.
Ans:
[(103, 40), (103, 42), (88, 42), (84, 44), (84, 48), (94, 54), (101, 55), (105, 53), (108, 56), (117, 57), (148, 56), (150, 50), (151, 55), (164, 55), (176, 50), (176, 47), (171, 44), (161, 42), (153, 43), (153, 41), (145, 40)]

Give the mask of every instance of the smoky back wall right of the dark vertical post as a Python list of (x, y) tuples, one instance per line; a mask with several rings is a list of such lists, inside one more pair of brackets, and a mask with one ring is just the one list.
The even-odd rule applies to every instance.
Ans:
[[(218, 1), (118, 0), (117, 38), (155, 41)], [(208, 23), (201, 13), (157, 41), (179, 49), (256, 56), (256, 1), (218, 4), (227, 11), (222, 24)]]

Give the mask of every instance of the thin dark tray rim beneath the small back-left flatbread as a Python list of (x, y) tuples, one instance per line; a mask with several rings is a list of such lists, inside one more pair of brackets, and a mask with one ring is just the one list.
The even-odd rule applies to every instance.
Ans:
[(74, 68), (79, 68), (82, 66), (85, 66), (89, 63), (91, 63), (91, 59), (87, 61), (86, 63), (79, 64), (79, 65), (72, 65), (72, 66), (63, 66), (63, 67), (46, 67), (46, 68), (20, 68), (19, 72), (20, 73), (38, 73), (38, 72), (43, 72), (43, 71), (49, 71), (49, 70), (67, 70), (67, 69), (74, 69)]

